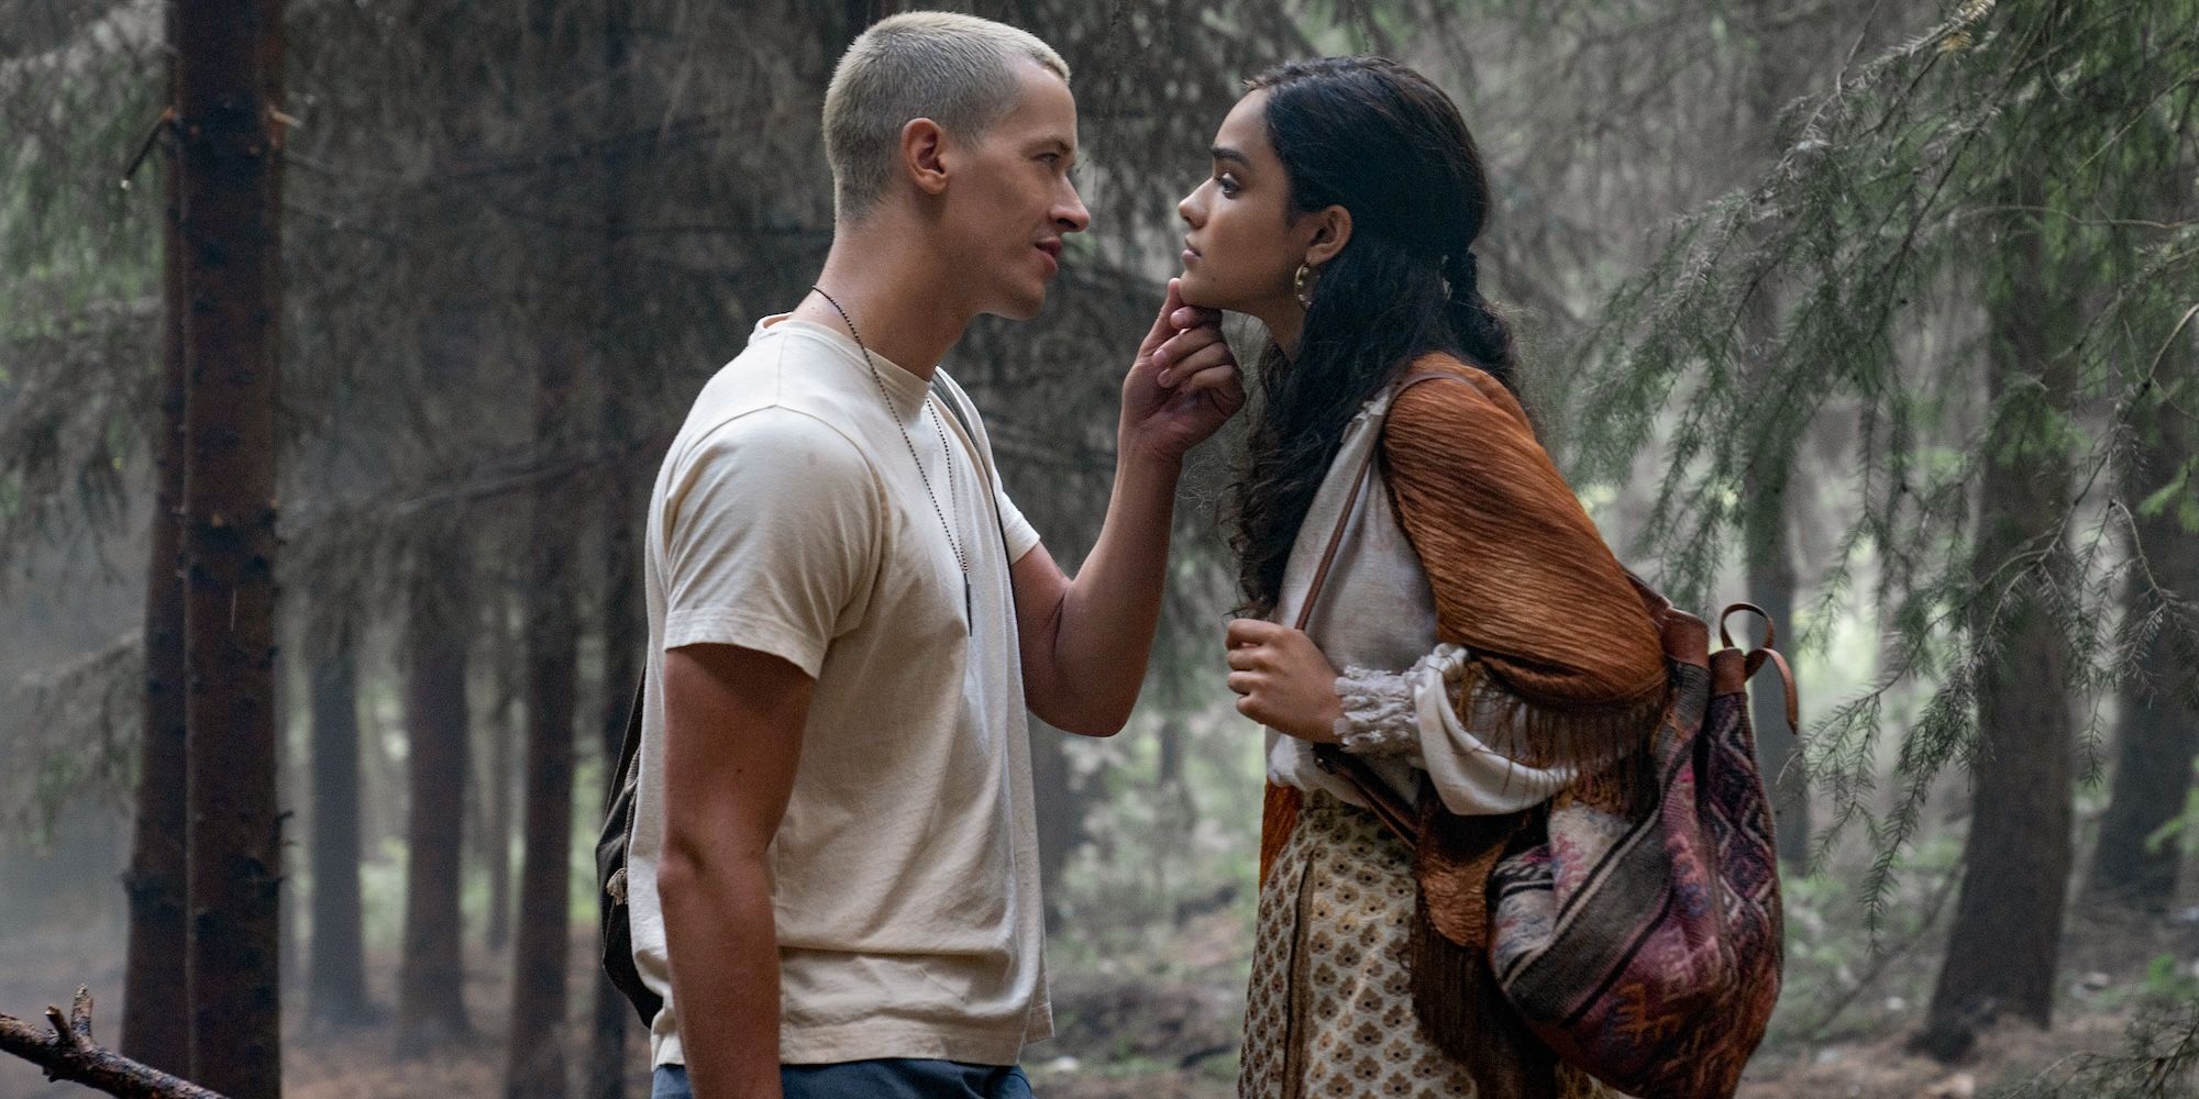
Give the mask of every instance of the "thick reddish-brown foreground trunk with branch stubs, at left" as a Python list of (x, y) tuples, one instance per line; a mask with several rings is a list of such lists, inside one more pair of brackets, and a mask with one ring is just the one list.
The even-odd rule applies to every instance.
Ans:
[(281, 1095), (275, 462), (281, 301), (266, 68), (281, 0), (178, 15), (185, 288), (191, 1077)]

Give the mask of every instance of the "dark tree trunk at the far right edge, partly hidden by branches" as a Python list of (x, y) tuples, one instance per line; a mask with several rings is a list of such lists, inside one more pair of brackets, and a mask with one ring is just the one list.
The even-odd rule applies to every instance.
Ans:
[[(2177, 338), (2184, 343), (2168, 356), (2190, 363), (2190, 334)], [(2168, 367), (2162, 376), (2175, 378), (2179, 371)], [(2140, 435), (2135, 475), (2124, 481), (2133, 508), (2199, 446), (2199, 433), (2175, 409), (2157, 407), (2151, 420)], [(2140, 514), (2135, 536), (2135, 552), (2144, 556), (2144, 571), (2153, 582), (2181, 600), (2199, 598), (2199, 534), (2184, 530), (2175, 506), (2162, 514)], [(2144, 615), (2151, 609), (2151, 593), (2133, 580), (2126, 613)], [(2199, 681), (2192, 668), (2199, 668), (2199, 651), (2190, 644), (2190, 633), (2164, 626), (2146, 642), (2137, 657), (2137, 681), (2122, 695), (2115, 785), (2100, 820), (2100, 846), (2087, 888), (2098, 901), (2142, 912), (2164, 912), (2175, 901), (2181, 862), (2177, 844), (2148, 848), (2146, 840), (2184, 811), (2192, 787), (2192, 758), (2199, 756)]]

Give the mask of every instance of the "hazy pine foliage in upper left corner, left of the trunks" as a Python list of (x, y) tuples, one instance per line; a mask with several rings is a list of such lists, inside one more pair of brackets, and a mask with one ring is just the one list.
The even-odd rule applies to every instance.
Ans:
[[(158, 400), (158, 9), (0, 11), (0, 587), (123, 528)], [(117, 262), (117, 257), (136, 257)]]

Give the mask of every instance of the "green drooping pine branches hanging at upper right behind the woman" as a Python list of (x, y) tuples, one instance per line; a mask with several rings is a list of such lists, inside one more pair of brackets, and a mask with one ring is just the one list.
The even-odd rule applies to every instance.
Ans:
[[(1852, 57), (1830, 95), (1794, 101), (1777, 163), (1673, 222), (1579, 341), (1581, 466), (1618, 481), (1662, 448), (1640, 550), (1684, 604), (1709, 602), (1746, 512), (1772, 506), (1744, 492), (1748, 470), (1786, 462), (1821, 420), (1847, 424), (1845, 466), (1816, 475), (1860, 508), (1808, 642), (1867, 602), (1887, 653), (1876, 684), (1805, 743), (1812, 785), (1834, 800), (1823, 842), (1860, 824), (1878, 848), (1874, 921), (1933, 780), (1979, 750), (1979, 677), (2016, 607), (2052, 613), (2071, 695), (2091, 701), (2144, 635), (2192, 631), (2195, 593), (2151, 585), (2131, 530), (2133, 508), (2184, 506), (2190, 479), (2135, 468), (2131, 440), (2157, 415), (2190, 418), (2199, 387), (2195, 110), (2199, 4), (1951, 4), (1929, 31)], [(2038, 185), (2016, 200), (2014, 178)], [(2065, 317), (2045, 360), (2008, 365), (1983, 306), (2025, 246)], [(1748, 347), (1746, 310), (1770, 288), (1786, 301), (1777, 334)], [(1750, 371), (1748, 352), (1768, 369)], [(2014, 371), (1992, 402), (1988, 369)], [(1979, 563), (1979, 486), (2010, 455), (2074, 475), (2043, 517), (2049, 536)], [(1926, 701), (1893, 728), (1889, 695), (1918, 684)], [(1891, 798), (1876, 791), (1882, 747), (1898, 761)]]

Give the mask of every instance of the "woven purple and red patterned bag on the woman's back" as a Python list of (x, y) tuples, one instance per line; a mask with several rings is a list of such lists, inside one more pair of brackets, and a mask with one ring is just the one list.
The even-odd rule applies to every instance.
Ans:
[[(1643, 587), (1671, 662), (1638, 811), (1552, 800), (1546, 829), (1489, 877), (1489, 963), (1522, 1022), (1563, 1062), (1640, 1099), (1731, 1097), (1779, 1000), (1779, 855), (1746, 681), (1772, 651), (1750, 604), (1702, 620)], [(1726, 618), (1755, 611), (1739, 651)]]

